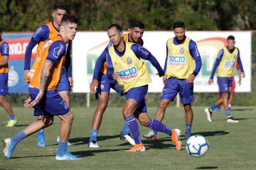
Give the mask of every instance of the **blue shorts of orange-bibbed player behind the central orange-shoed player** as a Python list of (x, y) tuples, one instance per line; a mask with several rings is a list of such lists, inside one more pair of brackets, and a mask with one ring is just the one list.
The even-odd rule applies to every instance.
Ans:
[(116, 81), (108, 79), (105, 74), (99, 73), (98, 81), (99, 81), (99, 85), (98, 85), (98, 88), (96, 88), (96, 92), (95, 92), (96, 99), (99, 99), (99, 94), (101, 94), (101, 92), (109, 93), (110, 88), (116, 91), (116, 93), (118, 93), (119, 95), (121, 96), (124, 95), (124, 92), (117, 85)]

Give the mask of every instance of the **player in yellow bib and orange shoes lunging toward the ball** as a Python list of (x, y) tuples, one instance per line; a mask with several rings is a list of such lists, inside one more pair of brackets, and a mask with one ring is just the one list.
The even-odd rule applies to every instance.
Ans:
[(113, 46), (107, 51), (107, 77), (116, 80), (118, 86), (125, 93), (126, 102), (122, 112), (135, 141), (134, 147), (126, 152), (145, 151), (136, 118), (141, 125), (170, 135), (176, 145), (176, 150), (180, 150), (180, 130), (171, 129), (161, 122), (149, 118), (147, 114), (145, 96), (151, 78), (144, 60), (149, 60), (152, 63), (157, 69), (159, 77), (164, 75), (164, 71), (146, 48), (139, 44), (124, 42), (122, 34), (122, 29), (117, 24), (111, 24), (107, 28), (107, 35), (113, 43)]

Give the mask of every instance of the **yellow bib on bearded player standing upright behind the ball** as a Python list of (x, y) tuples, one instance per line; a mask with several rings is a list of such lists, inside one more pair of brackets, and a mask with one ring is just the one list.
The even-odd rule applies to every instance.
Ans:
[(189, 52), (190, 39), (179, 45), (173, 43), (174, 38), (167, 41), (168, 55), (165, 77), (176, 77), (180, 79), (188, 78), (194, 71), (194, 58)]

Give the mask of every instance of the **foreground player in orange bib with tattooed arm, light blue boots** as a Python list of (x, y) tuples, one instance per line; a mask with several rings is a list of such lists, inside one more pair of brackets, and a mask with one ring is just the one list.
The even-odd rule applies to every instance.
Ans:
[(61, 119), (61, 125), (56, 159), (81, 160), (66, 150), (74, 115), (57, 92), (57, 87), (61, 81), (61, 72), (65, 66), (66, 43), (75, 38), (77, 22), (78, 20), (72, 15), (63, 16), (59, 35), (43, 46), (40, 64), (33, 64), (31, 68), (33, 71), (30, 70), (28, 74), (30, 82), (28, 90), (32, 101), (27, 101), (24, 106), (34, 107), (34, 116), (41, 115), (42, 119), (34, 121), (14, 137), (3, 140), (4, 155), (7, 159), (10, 159), (15, 146), (22, 139), (42, 128), (51, 126), (53, 117), (58, 116)]

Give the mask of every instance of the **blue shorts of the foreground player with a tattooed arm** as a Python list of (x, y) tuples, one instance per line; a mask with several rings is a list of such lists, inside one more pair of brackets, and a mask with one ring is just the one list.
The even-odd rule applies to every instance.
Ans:
[[(28, 88), (29, 95), (33, 101), (39, 89), (31, 87)], [(65, 115), (69, 111), (67, 103), (61, 98), (57, 90), (47, 90), (44, 93), (43, 98), (39, 103), (34, 107), (34, 116), (47, 115), (47, 116), (56, 116), (56, 115)]]

